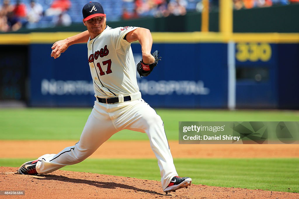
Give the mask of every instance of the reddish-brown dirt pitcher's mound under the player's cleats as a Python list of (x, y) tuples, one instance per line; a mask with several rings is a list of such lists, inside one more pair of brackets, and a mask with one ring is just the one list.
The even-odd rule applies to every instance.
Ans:
[[(0, 167), (1, 191), (25, 191), (18, 198), (299, 198), (297, 193), (191, 185), (166, 195), (161, 182), (94, 173), (55, 171), (43, 175), (15, 174)], [(192, 177), (192, 176), (190, 176)], [(2, 198), (0, 196), (0, 198)]]

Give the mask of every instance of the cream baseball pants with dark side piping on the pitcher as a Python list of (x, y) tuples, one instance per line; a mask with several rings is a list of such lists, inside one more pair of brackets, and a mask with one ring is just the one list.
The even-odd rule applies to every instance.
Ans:
[(158, 159), (162, 188), (165, 189), (170, 180), (178, 174), (173, 164), (163, 121), (142, 99), (115, 104), (95, 101), (79, 142), (58, 154), (39, 157), (36, 171), (46, 174), (79, 163), (94, 153), (113, 134), (123, 129), (148, 135), (152, 151)]

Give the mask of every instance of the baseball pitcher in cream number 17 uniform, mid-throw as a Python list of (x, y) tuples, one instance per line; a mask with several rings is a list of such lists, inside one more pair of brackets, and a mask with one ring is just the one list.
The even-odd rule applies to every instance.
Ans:
[[(95, 102), (79, 142), (58, 154), (45, 154), (24, 163), (18, 174), (47, 174), (89, 157), (113, 134), (123, 129), (146, 133), (158, 159), (163, 191), (168, 193), (187, 188), (191, 178), (179, 177), (164, 131), (164, 123), (155, 110), (142, 98), (136, 79), (136, 66), (131, 43), (139, 41), (142, 60), (137, 65), (140, 76), (149, 75), (161, 60), (159, 52), (151, 54), (152, 36), (141, 27), (111, 28), (106, 25), (106, 14), (97, 2), (87, 3), (82, 10), (87, 31), (55, 42), (55, 59), (68, 46), (87, 42), (87, 60), (93, 79)], [(83, 66), (86, 67), (86, 66)]]

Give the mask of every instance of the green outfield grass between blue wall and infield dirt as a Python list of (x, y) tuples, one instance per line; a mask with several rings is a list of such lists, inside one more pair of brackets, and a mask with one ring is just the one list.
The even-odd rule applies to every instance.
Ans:
[[(178, 140), (179, 121), (299, 121), (299, 111), (156, 109), (168, 140)], [(91, 108), (0, 109), (1, 140), (79, 140)], [(147, 135), (120, 131), (112, 140), (147, 140)]]

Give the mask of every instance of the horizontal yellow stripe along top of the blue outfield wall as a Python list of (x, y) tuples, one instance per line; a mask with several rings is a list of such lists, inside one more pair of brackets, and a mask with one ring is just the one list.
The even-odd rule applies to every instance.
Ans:
[[(0, 45), (53, 44), (79, 32), (0, 34)], [(299, 33), (233, 33), (216, 32), (152, 33), (154, 43), (227, 43), (267, 42), (299, 43)]]

